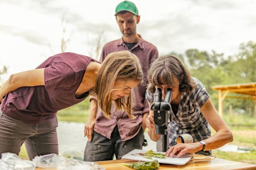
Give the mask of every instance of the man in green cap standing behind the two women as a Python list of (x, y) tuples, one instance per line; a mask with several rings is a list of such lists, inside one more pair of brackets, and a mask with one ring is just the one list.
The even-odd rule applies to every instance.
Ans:
[(144, 145), (145, 120), (149, 114), (149, 105), (145, 99), (146, 76), (148, 66), (157, 57), (158, 51), (154, 45), (137, 34), (136, 26), (140, 22), (140, 15), (133, 2), (119, 3), (115, 16), (123, 36), (105, 44), (100, 61), (102, 62), (109, 53), (130, 50), (140, 59), (144, 83), (134, 88), (134, 119), (130, 119), (125, 111), (116, 110), (114, 105), (112, 105), (111, 119), (107, 119), (97, 107), (97, 98), (90, 97), (90, 113), (85, 125), (88, 142), (84, 161), (112, 160), (114, 155), (118, 158), (134, 149), (142, 149)]

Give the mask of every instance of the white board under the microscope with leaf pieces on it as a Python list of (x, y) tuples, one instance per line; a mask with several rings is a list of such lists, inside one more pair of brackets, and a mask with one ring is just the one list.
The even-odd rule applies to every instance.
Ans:
[[(145, 152), (147, 152), (147, 151), (146, 150), (133, 150), (133, 151), (127, 153), (126, 155), (124, 155), (122, 157), (122, 159), (137, 160), (137, 161), (152, 161), (152, 160), (156, 159), (156, 160), (158, 160), (159, 163), (185, 165), (194, 156), (193, 154), (192, 155), (182, 155), (182, 156), (180, 156), (180, 158), (166, 157), (165, 159), (152, 157), (152, 160), (150, 160), (150, 159), (144, 158), (143, 156), (140, 156), (140, 155), (132, 155), (132, 154), (136, 154), (136, 153), (145, 153)], [(154, 151), (154, 153), (165, 154), (165, 152), (157, 152), (157, 151)]]

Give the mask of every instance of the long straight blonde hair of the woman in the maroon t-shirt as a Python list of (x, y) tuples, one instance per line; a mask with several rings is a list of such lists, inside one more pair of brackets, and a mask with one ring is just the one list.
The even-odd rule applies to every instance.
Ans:
[[(111, 92), (114, 83), (126, 80), (142, 82), (142, 77), (140, 61), (130, 51), (114, 52), (106, 56), (100, 67), (95, 87), (92, 89), (91, 94), (97, 95), (98, 106), (108, 119), (111, 116), (113, 101)], [(131, 110), (132, 95), (133, 91), (131, 90), (129, 97), (123, 96), (114, 100), (116, 109), (125, 110), (131, 119), (134, 118)]]

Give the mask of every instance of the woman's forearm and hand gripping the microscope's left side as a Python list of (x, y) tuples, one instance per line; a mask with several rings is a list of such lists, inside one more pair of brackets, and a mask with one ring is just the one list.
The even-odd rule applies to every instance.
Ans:
[[(151, 107), (151, 103), (149, 102), (149, 109)], [(147, 125), (147, 133), (149, 134), (149, 137), (152, 141), (158, 141), (161, 138), (160, 134), (156, 134), (155, 125), (154, 125), (154, 112), (153, 110), (149, 110), (149, 116), (146, 120)]]

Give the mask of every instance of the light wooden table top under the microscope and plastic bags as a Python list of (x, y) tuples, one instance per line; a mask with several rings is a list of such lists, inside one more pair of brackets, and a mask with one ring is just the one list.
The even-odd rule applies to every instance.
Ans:
[[(195, 154), (196, 159), (204, 158), (206, 156)], [(137, 162), (134, 160), (112, 160), (112, 161), (99, 161), (95, 162), (106, 168), (106, 170), (132, 170), (129, 167), (121, 165), (121, 163)], [(193, 160), (185, 165), (169, 165), (160, 164), (159, 170), (256, 170), (256, 165), (234, 162), (224, 160), (220, 158), (205, 159), (205, 160)], [(43, 170), (42, 168), (36, 168), (36, 170)], [(48, 169), (50, 170), (50, 169)], [(56, 170), (56, 169), (51, 169)]]

